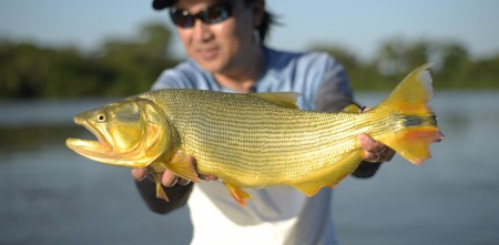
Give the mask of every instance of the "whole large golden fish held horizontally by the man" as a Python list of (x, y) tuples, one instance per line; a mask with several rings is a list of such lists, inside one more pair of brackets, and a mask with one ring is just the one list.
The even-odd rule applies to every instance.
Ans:
[[(296, 93), (234, 94), (202, 90), (157, 90), (83, 112), (74, 122), (98, 141), (68, 139), (91, 160), (149, 167), (156, 196), (167, 200), (161, 173), (197, 182), (217, 176), (242, 205), (242, 188), (291, 185), (310, 196), (333, 187), (361, 161), (357, 135), (367, 133), (411, 163), (430, 156), (442, 139), (428, 106), (429, 65), (413, 71), (378, 106), (360, 113), (296, 109)], [(187, 156), (194, 156), (196, 169)]]

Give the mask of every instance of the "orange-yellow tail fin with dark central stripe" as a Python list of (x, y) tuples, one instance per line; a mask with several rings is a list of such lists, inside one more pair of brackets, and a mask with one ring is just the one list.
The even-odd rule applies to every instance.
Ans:
[(414, 164), (430, 157), (429, 144), (439, 142), (444, 134), (437, 127), (437, 119), (428, 102), (434, 96), (431, 64), (425, 64), (411, 73), (377, 108), (399, 116), (398, 130), (380, 142), (390, 146)]

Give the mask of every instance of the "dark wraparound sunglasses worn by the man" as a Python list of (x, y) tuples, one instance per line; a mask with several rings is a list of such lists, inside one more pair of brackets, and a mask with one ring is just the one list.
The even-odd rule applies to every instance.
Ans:
[(175, 25), (180, 28), (192, 28), (196, 19), (204, 23), (220, 23), (232, 17), (232, 4), (230, 2), (222, 2), (206, 8), (205, 10), (192, 14), (187, 10), (171, 8), (170, 18)]

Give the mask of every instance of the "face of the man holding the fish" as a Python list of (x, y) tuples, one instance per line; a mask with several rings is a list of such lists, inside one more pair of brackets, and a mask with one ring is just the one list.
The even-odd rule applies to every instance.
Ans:
[[(176, 9), (196, 14), (223, 1), (179, 0)], [(204, 70), (212, 73), (231, 72), (245, 65), (246, 53), (253, 52), (254, 11), (243, 1), (232, 1), (232, 17), (218, 23), (195, 19), (191, 28), (176, 25), (179, 37), (187, 52)]]

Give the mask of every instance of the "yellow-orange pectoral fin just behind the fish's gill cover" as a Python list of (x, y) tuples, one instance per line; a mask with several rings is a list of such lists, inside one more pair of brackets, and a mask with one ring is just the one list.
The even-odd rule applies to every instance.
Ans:
[(165, 163), (165, 166), (183, 178), (196, 183), (201, 181), (193, 165), (193, 157), (189, 156), (182, 149), (177, 149), (176, 151), (174, 151), (170, 161)]

